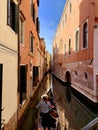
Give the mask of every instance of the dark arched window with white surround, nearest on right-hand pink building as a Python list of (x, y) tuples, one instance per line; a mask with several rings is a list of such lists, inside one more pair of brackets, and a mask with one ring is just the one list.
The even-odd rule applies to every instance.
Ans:
[(88, 44), (88, 24), (87, 22), (83, 25), (83, 48), (86, 48)]

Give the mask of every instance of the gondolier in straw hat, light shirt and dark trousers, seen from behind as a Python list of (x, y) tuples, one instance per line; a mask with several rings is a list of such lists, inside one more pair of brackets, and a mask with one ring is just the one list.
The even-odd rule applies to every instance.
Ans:
[(46, 128), (50, 130), (50, 105), (50, 102), (47, 101), (47, 95), (44, 95), (42, 100), (36, 106), (36, 108), (40, 109), (40, 116), (42, 116), (42, 126), (44, 130), (46, 130)]

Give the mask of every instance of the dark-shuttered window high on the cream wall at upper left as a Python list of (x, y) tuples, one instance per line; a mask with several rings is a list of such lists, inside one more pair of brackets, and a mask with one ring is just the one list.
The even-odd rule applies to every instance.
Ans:
[(12, 0), (7, 0), (7, 24), (18, 33), (19, 8)]

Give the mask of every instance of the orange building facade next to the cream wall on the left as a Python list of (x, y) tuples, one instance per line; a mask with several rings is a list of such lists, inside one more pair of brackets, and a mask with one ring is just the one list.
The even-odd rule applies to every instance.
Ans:
[(19, 4), (19, 88), (18, 119), (22, 117), (39, 82), (38, 49), (39, 0), (21, 0)]

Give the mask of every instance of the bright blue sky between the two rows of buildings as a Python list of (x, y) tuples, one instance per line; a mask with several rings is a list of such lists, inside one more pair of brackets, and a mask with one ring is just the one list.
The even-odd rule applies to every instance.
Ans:
[(66, 0), (40, 0), (40, 37), (46, 42), (46, 49), (52, 53), (52, 40), (60, 21)]

